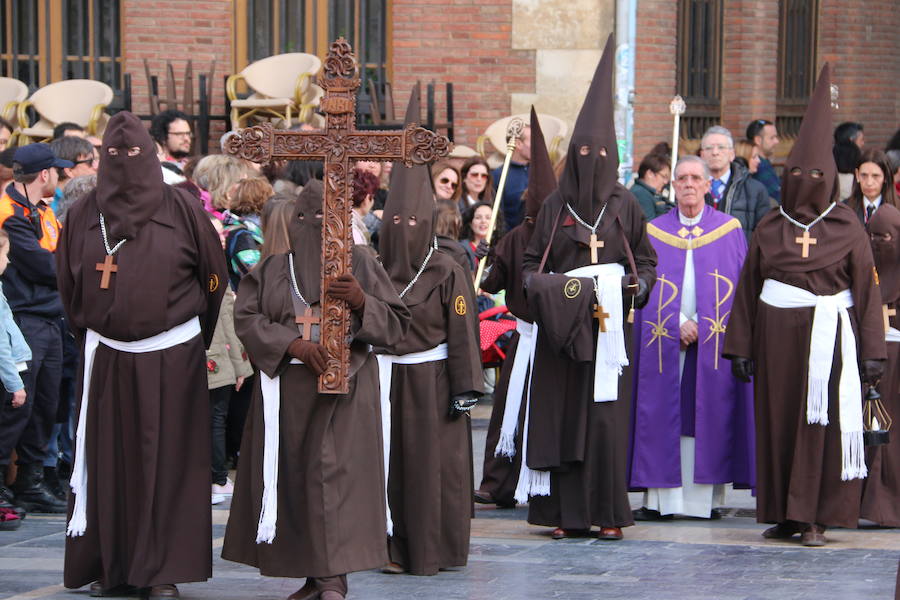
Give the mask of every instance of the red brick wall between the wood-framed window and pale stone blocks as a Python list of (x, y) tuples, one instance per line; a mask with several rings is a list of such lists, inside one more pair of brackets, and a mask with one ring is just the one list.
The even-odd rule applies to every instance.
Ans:
[(443, 84), (453, 82), (458, 144), (474, 148), (491, 122), (509, 114), (510, 94), (534, 92), (534, 52), (512, 50), (511, 0), (394, 0), (394, 103), (403, 115), (416, 80), (435, 80), (437, 120)]

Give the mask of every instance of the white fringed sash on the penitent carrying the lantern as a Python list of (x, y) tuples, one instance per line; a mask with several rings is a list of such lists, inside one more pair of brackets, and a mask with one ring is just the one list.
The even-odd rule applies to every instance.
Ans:
[(838, 418), (841, 427), (841, 479), (862, 479), (867, 474), (862, 437), (862, 382), (856, 359), (856, 336), (847, 312), (853, 306), (853, 295), (850, 290), (844, 290), (833, 296), (817, 296), (802, 288), (766, 279), (760, 300), (776, 308), (815, 308), (806, 391), (806, 422), (811, 425), (828, 425), (828, 380), (834, 362), (834, 342), (840, 318), (842, 367), (838, 386)]

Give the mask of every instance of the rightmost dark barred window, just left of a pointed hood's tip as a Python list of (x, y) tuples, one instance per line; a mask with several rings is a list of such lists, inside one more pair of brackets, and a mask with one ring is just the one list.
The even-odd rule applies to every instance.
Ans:
[(816, 0), (780, 0), (775, 126), (795, 137), (816, 81)]

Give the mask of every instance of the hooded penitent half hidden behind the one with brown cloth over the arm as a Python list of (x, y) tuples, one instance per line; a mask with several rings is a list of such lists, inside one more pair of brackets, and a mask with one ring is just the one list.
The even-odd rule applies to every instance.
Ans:
[[(521, 225), (503, 236), (488, 257), (489, 271), (481, 280), (481, 289), (496, 293), (506, 290), (506, 307), (518, 319), (533, 323), (534, 318), (528, 310), (525, 290), (522, 287), (522, 259), (525, 249), (534, 232), (534, 220), (544, 199), (556, 189), (556, 176), (553, 174), (553, 163), (547, 153), (544, 134), (534, 107), (531, 108), (531, 167), (528, 176), (528, 189), (525, 191), (525, 219)], [(522, 427), (525, 420), (525, 403), (519, 405), (518, 425), (515, 436), (515, 454), (513, 456), (497, 456), (495, 450), (500, 440), (500, 430), (504, 420), (509, 390), (510, 375), (516, 355), (519, 351), (519, 333), (513, 334), (506, 351), (506, 359), (500, 370), (500, 380), (494, 389), (494, 406), (491, 410), (491, 421), (488, 425), (487, 440), (484, 447), (484, 467), (481, 485), (475, 493), (476, 501), (493, 501), (499, 506), (515, 505), (513, 496), (516, 483), (519, 481), (519, 468), (522, 462)], [(523, 378), (524, 384), (527, 381)], [(524, 385), (523, 396), (524, 396)]]

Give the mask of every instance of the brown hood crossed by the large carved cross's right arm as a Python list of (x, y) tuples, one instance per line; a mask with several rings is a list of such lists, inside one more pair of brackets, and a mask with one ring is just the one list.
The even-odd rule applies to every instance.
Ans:
[[(419, 84), (416, 83), (406, 108), (406, 124), (415, 122), (420, 114), (419, 95)], [(434, 212), (434, 191), (428, 167), (404, 167), (396, 164), (391, 172), (390, 192), (384, 204), (378, 250), (398, 293), (419, 272), (433, 244)], [(422, 279), (420, 277), (420, 281), (414, 286), (416, 289), (411, 289), (404, 296), (407, 304), (412, 298), (419, 297), (415, 291), (429, 287)]]

